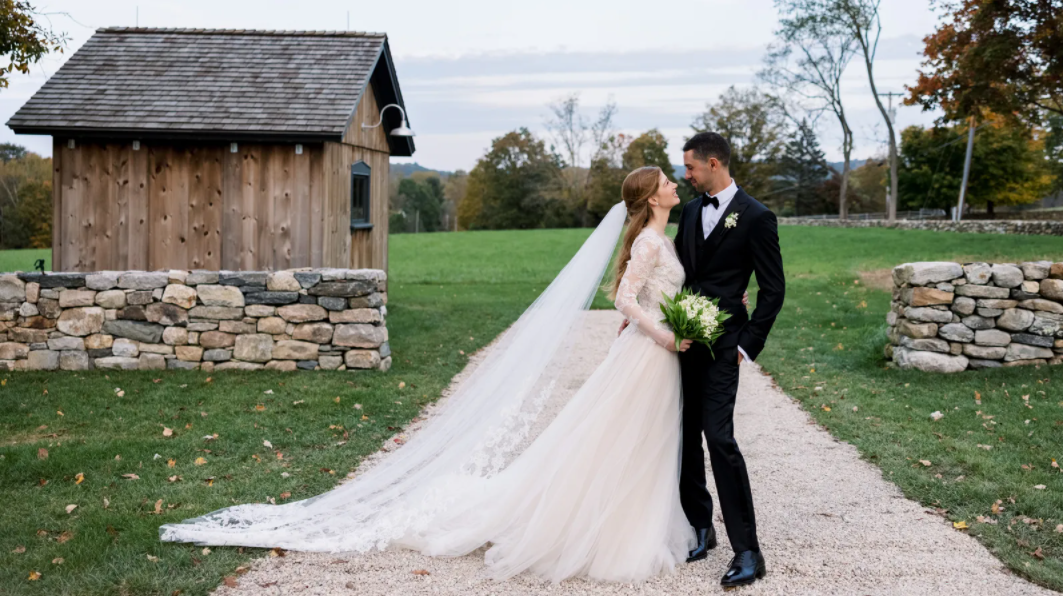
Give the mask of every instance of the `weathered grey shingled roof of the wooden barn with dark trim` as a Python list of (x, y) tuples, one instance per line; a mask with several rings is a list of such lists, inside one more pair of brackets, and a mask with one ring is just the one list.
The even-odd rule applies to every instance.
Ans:
[[(98, 30), (7, 121), (16, 133), (339, 140), (372, 82), (403, 105), (383, 33)], [(405, 108), (405, 105), (403, 105)], [(400, 124), (385, 113), (385, 127)], [(389, 137), (392, 155), (411, 138)]]

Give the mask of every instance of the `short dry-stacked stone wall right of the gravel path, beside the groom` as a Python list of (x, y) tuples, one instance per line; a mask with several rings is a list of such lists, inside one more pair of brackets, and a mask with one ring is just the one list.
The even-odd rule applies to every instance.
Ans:
[(893, 284), (887, 358), (902, 369), (1063, 363), (1063, 262), (910, 262)]

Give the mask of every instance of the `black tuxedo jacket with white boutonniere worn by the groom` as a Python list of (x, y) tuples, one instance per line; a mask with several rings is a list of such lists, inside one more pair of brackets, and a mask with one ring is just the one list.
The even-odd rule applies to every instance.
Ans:
[[(756, 359), (782, 310), (786, 294), (778, 221), (771, 209), (740, 188), (712, 233), (699, 242), (702, 201), (698, 197), (684, 206), (675, 237), (676, 254), (687, 272), (686, 286), (704, 296), (720, 299), (720, 308), (730, 313), (715, 345), (741, 346)], [(737, 225), (727, 227), (727, 218), (732, 214), (738, 218)], [(742, 306), (742, 294), (753, 274), (757, 275), (760, 291), (750, 317)]]

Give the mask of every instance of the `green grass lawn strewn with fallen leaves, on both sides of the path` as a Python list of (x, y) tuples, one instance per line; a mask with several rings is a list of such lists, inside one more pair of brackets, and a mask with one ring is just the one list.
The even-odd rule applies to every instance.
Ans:
[[(305, 498), (334, 486), (437, 398), (467, 355), (508, 326), (588, 234), (391, 237), (394, 367), (386, 374), (0, 377), (0, 499), (7, 504), (0, 509), (0, 585), (12, 594), (208, 593), (266, 551), (205, 554), (163, 544), (158, 525), (233, 503)], [(1050, 465), (1051, 458), (1063, 461), (1063, 392), (1052, 385), (1059, 373), (887, 371), (889, 294), (854, 284), (860, 271), (907, 260), (1063, 260), (1063, 240), (874, 228), (784, 227), (781, 234), (789, 293), (761, 363), (909, 496), (966, 522), (965, 531), (1011, 568), (1063, 589), (1063, 534), (1054, 533), (1063, 523), (1063, 476)], [(0, 253), (0, 269), (27, 268), (4, 267), (5, 258)], [(608, 303), (600, 296), (595, 305)], [(934, 410), (945, 418), (931, 423)], [(164, 437), (164, 428), (173, 435)], [(40, 448), (47, 459), (38, 458)], [(206, 463), (197, 465), (200, 457)], [(997, 499), (1003, 511), (994, 515)], [(69, 505), (78, 507), (67, 513)], [(977, 523), (978, 515), (997, 523)], [(1044, 560), (1030, 555), (1037, 548)], [(40, 578), (29, 581), (31, 572)]]

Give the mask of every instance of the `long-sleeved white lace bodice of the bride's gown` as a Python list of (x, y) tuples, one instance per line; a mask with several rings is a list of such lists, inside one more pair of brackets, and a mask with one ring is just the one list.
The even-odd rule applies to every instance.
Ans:
[(672, 329), (662, 322), (660, 305), (664, 294), (675, 295), (685, 280), (672, 241), (646, 227), (631, 245), (631, 259), (617, 289), (617, 310), (654, 341), (670, 343)]

